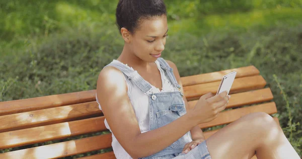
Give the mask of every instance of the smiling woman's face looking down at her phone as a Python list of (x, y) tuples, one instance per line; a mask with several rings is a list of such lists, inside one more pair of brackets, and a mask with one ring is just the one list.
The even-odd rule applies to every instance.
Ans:
[[(168, 32), (167, 17), (154, 17), (140, 21), (134, 34), (128, 35), (128, 45), (131, 52), (146, 62), (154, 62), (165, 49)], [(124, 38), (125, 39), (125, 38)]]

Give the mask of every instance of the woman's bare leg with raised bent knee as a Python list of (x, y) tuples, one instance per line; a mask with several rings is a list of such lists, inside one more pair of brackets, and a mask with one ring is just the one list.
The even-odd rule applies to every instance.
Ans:
[(266, 113), (251, 113), (223, 127), (206, 144), (212, 159), (300, 159), (281, 127)]

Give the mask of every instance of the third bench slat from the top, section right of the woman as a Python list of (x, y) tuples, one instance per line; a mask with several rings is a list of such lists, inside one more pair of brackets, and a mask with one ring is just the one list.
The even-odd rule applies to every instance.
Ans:
[[(244, 93), (232, 94), (229, 104), (228, 104), (228, 106), (226, 106), (226, 109), (255, 104), (255, 103), (266, 102), (266, 101), (270, 101), (272, 99), (273, 99), (273, 95), (269, 88), (256, 90), (256, 91), (249, 91), (249, 92), (244, 92)], [(197, 102), (198, 102), (198, 100), (189, 101), (188, 102), (189, 108), (190, 109), (194, 108)]]

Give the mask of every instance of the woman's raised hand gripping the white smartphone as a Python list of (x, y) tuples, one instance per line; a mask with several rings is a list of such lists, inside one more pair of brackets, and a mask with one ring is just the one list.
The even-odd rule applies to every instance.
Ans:
[(191, 118), (197, 124), (214, 120), (219, 112), (224, 110), (226, 105), (228, 105), (230, 97), (230, 95), (227, 96), (226, 91), (215, 96), (212, 93), (201, 96), (194, 109), (190, 110)]

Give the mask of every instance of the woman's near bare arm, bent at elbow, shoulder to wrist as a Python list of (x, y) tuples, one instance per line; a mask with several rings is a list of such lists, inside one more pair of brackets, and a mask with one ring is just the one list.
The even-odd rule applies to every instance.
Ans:
[(197, 121), (191, 121), (190, 114), (186, 113), (163, 127), (141, 133), (127, 95), (124, 76), (114, 67), (106, 67), (101, 71), (97, 95), (111, 131), (133, 158), (163, 150), (197, 125)]

